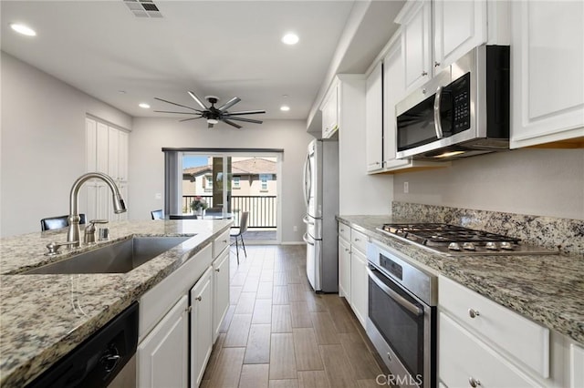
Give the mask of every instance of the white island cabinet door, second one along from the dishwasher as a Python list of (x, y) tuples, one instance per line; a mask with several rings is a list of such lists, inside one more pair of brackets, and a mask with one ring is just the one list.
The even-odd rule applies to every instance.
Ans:
[(191, 289), (191, 387), (203, 380), (213, 349), (213, 267)]

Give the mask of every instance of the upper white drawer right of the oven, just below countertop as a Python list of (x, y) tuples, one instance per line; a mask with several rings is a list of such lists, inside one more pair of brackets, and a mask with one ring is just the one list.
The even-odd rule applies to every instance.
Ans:
[(438, 295), (441, 308), (450, 311), (470, 332), (508, 352), (542, 377), (549, 376), (547, 328), (443, 276), (438, 281)]

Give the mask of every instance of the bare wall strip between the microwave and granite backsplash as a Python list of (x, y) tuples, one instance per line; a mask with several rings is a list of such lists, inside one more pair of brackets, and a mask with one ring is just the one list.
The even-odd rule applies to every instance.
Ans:
[[(403, 182), (409, 182), (409, 194)], [(584, 149), (516, 149), (396, 174), (402, 202), (584, 220)]]

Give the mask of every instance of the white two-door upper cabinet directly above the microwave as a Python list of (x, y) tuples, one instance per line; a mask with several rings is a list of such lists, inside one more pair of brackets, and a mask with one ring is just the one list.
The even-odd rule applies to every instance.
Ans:
[[(473, 47), (486, 43), (489, 35), (485, 0), (411, 0), (395, 22), (401, 25), (407, 91), (421, 87)], [(495, 29), (493, 37), (500, 38)]]

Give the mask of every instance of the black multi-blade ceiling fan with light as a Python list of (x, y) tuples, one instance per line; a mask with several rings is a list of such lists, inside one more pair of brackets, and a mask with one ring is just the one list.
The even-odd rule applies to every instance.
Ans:
[(241, 112), (227, 111), (227, 109), (229, 109), (230, 107), (233, 107), (235, 104), (237, 104), (239, 101), (241, 101), (241, 98), (239, 98), (239, 97), (233, 97), (229, 101), (224, 103), (224, 105), (222, 105), (221, 107), (215, 107), (215, 104), (219, 101), (219, 98), (214, 97), (214, 96), (207, 96), (207, 97), (205, 97), (205, 99), (209, 102), (209, 104), (211, 104), (211, 106), (206, 107), (203, 104), (203, 101), (201, 100), (201, 98), (197, 97), (193, 92), (188, 92), (188, 93), (189, 93), (189, 96), (193, 97), (193, 100), (200, 107), (203, 108), (203, 110), (195, 109), (194, 107), (187, 107), (185, 105), (177, 104), (175, 102), (168, 101), (168, 100), (165, 100), (165, 99), (162, 99), (159, 97), (154, 97), (154, 99), (157, 99), (157, 100), (162, 101), (162, 102), (166, 102), (168, 104), (176, 105), (177, 107), (185, 107), (187, 109), (191, 109), (195, 113), (193, 113), (193, 112), (174, 112), (174, 111), (170, 111), (170, 110), (154, 110), (154, 112), (175, 113), (175, 114), (181, 114), (181, 115), (196, 115), (196, 117), (183, 118), (182, 120), (179, 120), (179, 121), (188, 121), (188, 120), (196, 120), (197, 118), (206, 118), (208, 128), (213, 128), (215, 124), (219, 123), (219, 121), (223, 121), (224, 123), (229, 124), (230, 126), (235, 127), (235, 128), (242, 128), (242, 127), (239, 124), (235, 123), (233, 120), (245, 121), (247, 123), (254, 123), (254, 124), (262, 124), (263, 123), (263, 121), (261, 121), (261, 120), (255, 120), (253, 118), (245, 118), (245, 117), (240, 117), (240, 116), (266, 113), (265, 110), (245, 110), (245, 111), (241, 111)]

